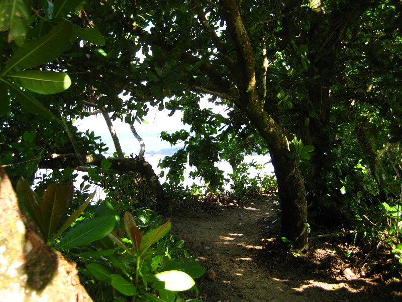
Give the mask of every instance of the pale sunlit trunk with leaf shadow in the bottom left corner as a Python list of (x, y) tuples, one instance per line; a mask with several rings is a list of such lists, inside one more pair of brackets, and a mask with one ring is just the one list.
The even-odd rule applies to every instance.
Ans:
[(75, 263), (51, 249), (23, 215), (10, 180), (0, 167), (0, 299), (2, 301), (92, 301)]

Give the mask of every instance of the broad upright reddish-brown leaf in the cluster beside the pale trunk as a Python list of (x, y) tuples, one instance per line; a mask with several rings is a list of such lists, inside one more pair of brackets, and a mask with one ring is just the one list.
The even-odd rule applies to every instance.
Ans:
[(68, 205), (74, 196), (72, 183), (61, 187), (58, 183), (51, 184), (43, 193), (41, 202), (41, 216), (46, 239), (50, 238), (61, 217), (65, 214)]

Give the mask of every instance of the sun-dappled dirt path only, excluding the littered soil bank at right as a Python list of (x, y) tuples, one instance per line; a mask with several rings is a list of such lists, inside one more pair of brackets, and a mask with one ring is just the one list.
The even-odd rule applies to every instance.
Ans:
[[(217, 211), (177, 211), (169, 218), (172, 233), (198, 255), (212, 279), (197, 280), (199, 299), (207, 302), (246, 301), (392, 301), (372, 279), (347, 279), (323, 263), (286, 253), (261, 257), (262, 237), (274, 211), (267, 196), (231, 204)], [(323, 251), (323, 250), (321, 250)], [(333, 255), (331, 255), (333, 256)], [(325, 261), (324, 261), (325, 262)], [(321, 267), (320, 267), (321, 265)], [(216, 277), (215, 277), (216, 274)], [(386, 291), (387, 296), (382, 291)]]

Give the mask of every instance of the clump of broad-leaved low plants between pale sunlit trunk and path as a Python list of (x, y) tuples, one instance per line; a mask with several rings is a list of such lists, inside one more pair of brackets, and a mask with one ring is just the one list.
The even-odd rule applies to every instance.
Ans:
[(93, 193), (69, 212), (72, 183), (53, 183), (39, 196), (21, 179), (17, 192), (49, 244), (77, 262), (94, 300), (184, 301), (179, 291), (198, 293), (194, 278), (205, 268), (189, 256), (181, 240), (168, 234), (170, 221), (161, 223), (154, 211), (141, 208), (136, 216), (126, 211), (121, 219), (109, 201), (89, 204)]

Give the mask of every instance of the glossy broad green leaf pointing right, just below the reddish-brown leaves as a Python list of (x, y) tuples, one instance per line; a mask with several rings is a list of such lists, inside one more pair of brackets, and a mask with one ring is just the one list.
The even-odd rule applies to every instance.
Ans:
[(76, 247), (102, 239), (112, 232), (115, 226), (115, 221), (115, 217), (110, 215), (95, 217), (77, 223), (54, 248), (61, 249), (63, 247)]

